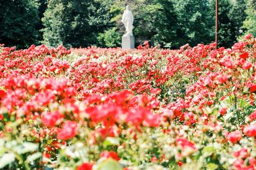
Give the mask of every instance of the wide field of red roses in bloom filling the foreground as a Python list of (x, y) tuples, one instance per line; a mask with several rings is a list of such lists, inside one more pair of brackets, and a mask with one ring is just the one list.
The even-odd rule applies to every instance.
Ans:
[(0, 169), (256, 169), (256, 43), (0, 47)]

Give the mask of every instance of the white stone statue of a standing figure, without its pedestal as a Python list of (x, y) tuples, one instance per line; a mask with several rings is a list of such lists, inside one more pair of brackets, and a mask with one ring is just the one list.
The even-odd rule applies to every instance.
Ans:
[(126, 34), (124, 36), (133, 36), (132, 29), (133, 29), (133, 16), (132, 11), (130, 10), (130, 6), (126, 6), (126, 10), (124, 11), (122, 17), (122, 23), (124, 23)]

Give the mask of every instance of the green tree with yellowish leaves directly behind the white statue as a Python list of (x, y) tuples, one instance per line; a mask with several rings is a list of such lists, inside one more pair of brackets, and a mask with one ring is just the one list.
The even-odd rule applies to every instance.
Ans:
[(124, 34), (124, 24), (121, 22), (122, 13), (125, 6), (131, 6), (134, 15), (133, 34), (137, 43), (151, 40), (155, 44), (175, 45), (176, 34), (176, 16), (173, 9), (173, 3), (170, 0), (148, 0), (148, 1), (120, 1), (116, 0), (111, 8), (111, 13), (115, 17), (118, 32)]

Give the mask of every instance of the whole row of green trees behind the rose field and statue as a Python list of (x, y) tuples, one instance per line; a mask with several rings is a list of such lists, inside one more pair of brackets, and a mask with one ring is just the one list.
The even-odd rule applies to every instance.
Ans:
[[(220, 46), (230, 47), (248, 32), (256, 36), (255, 2), (219, 0)], [(137, 44), (179, 48), (214, 41), (215, 0), (0, 0), (0, 43), (120, 46), (126, 4)]]

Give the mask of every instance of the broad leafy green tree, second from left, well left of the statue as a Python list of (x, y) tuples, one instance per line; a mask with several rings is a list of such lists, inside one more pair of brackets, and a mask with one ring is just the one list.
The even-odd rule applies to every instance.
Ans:
[(44, 43), (49, 46), (87, 46), (93, 39), (88, 20), (90, 0), (49, 0), (42, 22)]

